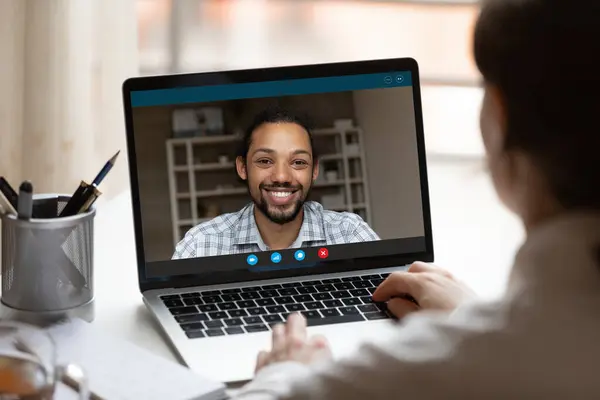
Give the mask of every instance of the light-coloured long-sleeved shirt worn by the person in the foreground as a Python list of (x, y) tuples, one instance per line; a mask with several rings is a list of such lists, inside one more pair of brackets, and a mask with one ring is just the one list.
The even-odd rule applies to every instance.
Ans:
[(600, 399), (599, 365), (600, 215), (572, 214), (530, 232), (501, 300), (412, 314), (338, 362), (270, 365), (236, 399)]

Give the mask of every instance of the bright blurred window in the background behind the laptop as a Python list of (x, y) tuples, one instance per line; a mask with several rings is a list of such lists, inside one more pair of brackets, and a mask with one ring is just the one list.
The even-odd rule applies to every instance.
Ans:
[(413, 57), (430, 155), (481, 157), (476, 0), (137, 0), (142, 74)]

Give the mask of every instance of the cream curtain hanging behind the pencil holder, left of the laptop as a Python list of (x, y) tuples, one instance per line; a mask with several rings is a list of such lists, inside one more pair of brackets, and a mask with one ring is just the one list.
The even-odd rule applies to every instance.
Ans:
[(121, 85), (138, 74), (135, 0), (2, 0), (0, 55), (0, 175), (71, 194), (121, 150), (101, 199), (127, 190)]

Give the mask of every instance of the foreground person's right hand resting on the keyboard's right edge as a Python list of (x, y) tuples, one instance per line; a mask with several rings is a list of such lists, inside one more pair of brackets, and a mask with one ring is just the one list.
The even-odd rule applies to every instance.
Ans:
[[(412, 297), (416, 303), (406, 299)], [(373, 293), (373, 301), (387, 302), (398, 318), (417, 310), (454, 310), (475, 293), (450, 272), (432, 264), (416, 262), (407, 272), (394, 272)]]

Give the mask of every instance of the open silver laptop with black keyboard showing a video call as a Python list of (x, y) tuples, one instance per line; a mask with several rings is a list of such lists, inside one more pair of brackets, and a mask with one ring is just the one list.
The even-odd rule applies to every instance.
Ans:
[(140, 291), (185, 365), (248, 380), (292, 312), (335, 357), (394, 323), (375, 288), (433, 261), (415, 60), (136, 77), (123, 99)]

